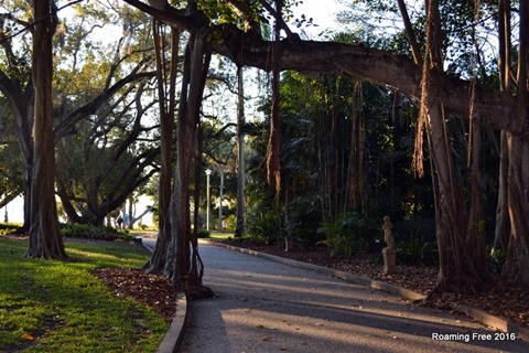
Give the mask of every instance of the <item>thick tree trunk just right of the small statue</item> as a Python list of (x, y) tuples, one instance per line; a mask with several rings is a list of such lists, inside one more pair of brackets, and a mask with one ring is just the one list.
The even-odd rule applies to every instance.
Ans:
[[(423, 61), (421, 83), (421, 117), (423, 126), (431, 139), (430, 156), (433, 161), (433, 183), (435, 195), (435, 223), (439, 247), (440, 271), (438, 290), (479, 291), (489, 280), (489, 271), (485, 266), (485, 252), (479, 232), (481, 195), (477, 185), (472, 186), (471, 212), (463, 196), (463, 189), (455, 172), (452, 146), (446, 128), (444, 100), (439, 99), (435, 92), (450, 89), (442, 85), (441, 31), (439, 22), (439, 3), (428, 2), (427, 46)], [(434, 69), (431, 71), (431, 67)], [(479, 182), (478, 153), (481, 130), (475, 119), (476, 86), (471, 85), (468, 108), (471, 111), (471, 178)], [(473, 145), (472, 145), (473, 143)], [(422, 146), (421, 146), (422, 148)]]

